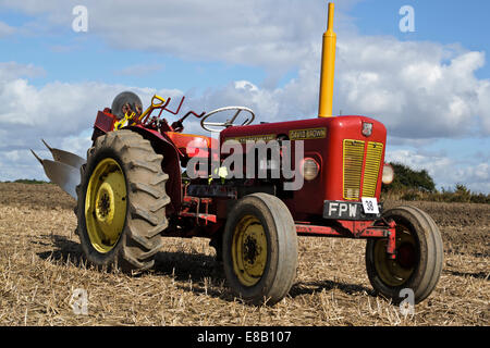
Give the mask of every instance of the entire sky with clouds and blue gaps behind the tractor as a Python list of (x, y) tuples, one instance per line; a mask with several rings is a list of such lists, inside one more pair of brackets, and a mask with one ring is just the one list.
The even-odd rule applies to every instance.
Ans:
[[(0, 181), (47, 179), (29, 151), (49, 158), (41, 138), (85, 157), (97, 111), (123, 90), (145, 105), (185, 96), (182, 112), (316, 117), (327, 3), (0, 0)], [(488, 13), (485, 0), (335, 1), (334, 113), (383, 122), (387, 160), (438, 189), (490, 194)], [(205, 134), (191, 120), (186, 132)]]

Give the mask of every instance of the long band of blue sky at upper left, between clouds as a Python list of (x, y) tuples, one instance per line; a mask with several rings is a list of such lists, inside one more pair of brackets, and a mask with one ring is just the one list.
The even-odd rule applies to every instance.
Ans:
[[(3, 9), (0, 15), (0, 20), (12, 27), (29, 26), (46, 16), (44, 13), (30, 15), (12, 9)], [(91, 35), (90, 30), (75, 33), (70, 25), (61, 27), (61, 30), (4, 37), (1, 48), (2, 61), (44, 69), (46, 73), (33, 79), (37, 86), (52, 80), (101, 80), (136, 87), (172, 86), (189, 90), (218, 87), (243, 78), (260, 84), (266, 76), (264, 69), (257, 66), (223, 63), (216, 59), (196, 60), (192, 53), (183, 58), (174, 57), (172, 52), (114, 48), (98, 35)], [(152, 69), (140, 74), (124, 73), (124, 69), (139, 65)]]

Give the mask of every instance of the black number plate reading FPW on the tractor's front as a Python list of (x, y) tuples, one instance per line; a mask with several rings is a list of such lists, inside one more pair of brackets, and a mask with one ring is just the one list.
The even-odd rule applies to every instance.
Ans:
[[(371, 199), (371, 198), (369, 198)], [(323, 219), (336, 220), (375, 220), (381, 217), (381, 203), (375, 202), (366, 203), (368, 210), (363, 202), (346, 202), (326, 200), (323, 203)]]

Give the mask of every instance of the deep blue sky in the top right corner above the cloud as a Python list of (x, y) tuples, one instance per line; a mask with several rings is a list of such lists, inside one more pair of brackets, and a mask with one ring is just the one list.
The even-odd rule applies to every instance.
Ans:
[[(415, 10), (415, 32), (402, 33), (399, 10), (409, 4)], [(490, 52), (487, 38), (490, 2), (485, 0), (365, 0), (351, 12), (358, 30), (366, 35), (392, 35), (400, 40), (429, 40), (461, 44), (469, 50)], [(490, 65), (477, 72), (490, 77)]]

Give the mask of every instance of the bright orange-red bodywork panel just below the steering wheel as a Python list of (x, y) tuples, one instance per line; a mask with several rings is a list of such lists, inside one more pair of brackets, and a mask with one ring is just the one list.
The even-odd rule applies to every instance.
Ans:
[(218, 149), (218, 140), (196, 134), (167, 132), (169, 138), (184, 156), (188, 158), (210, 156), (210, 149)]

